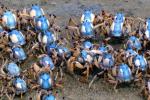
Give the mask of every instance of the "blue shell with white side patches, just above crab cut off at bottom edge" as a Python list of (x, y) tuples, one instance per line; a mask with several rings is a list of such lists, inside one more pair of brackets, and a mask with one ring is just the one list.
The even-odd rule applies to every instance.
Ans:
[(42, 72), (39, 74), (39, 85), (46, 90), (52, 87), (52, 78), (49, 73)]

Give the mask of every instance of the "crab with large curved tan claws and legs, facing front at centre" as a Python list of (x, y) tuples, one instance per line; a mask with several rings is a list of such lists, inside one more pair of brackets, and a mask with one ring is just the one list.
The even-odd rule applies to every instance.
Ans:
[(82, 74), (86, 75), (86, 80), (83, 79), (83, 81), (87, 81), (89, 78), (90, 69), (92, 69), (92, 63), (93, 57), (87, 50), (83, 49), (80, 52), (79, 48), (75, 48), (73, 56), (67, 61), (67, 70), (73, 75), (76, 68), (84, 70)]

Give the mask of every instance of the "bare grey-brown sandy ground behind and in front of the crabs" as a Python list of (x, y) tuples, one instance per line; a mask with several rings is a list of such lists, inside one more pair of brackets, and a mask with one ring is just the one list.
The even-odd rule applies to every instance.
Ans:
[[(30, 7), (31, 4), (40, 4), (46, 13), (56, 14), (58, 24), (62, 27), (66, 25), (68, 18), (79, 18), (84, 9), (92, 9), (94, 13), (99, 13), (101, 9), (114, 13), (123, 10), (127, 16), (150, 16), (150, 0), (48, 0), (47, 4), (42, 0), (0, 0), (6, 6), (12, 8)], [(91, 89), (88, 85), (80, 83), (65, 74), (64, 90), (59, 93), (58, 100), (142, 100), (139, 89), (121, 87), (118, 93), (113, 91), (111, 85), (106, 85), (103, 80), (96, 81)], [(32, 96), (35, 94), (32, 93)], [(31, 96), (31, 95), (30, 95)], [(24, 100), (27, 100), (26, 94)]]

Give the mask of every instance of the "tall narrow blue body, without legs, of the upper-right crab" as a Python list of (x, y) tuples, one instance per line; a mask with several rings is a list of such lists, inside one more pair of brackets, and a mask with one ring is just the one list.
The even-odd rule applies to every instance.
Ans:
[(111, 26), (111, 35), (114, 37), (122, 36), (123, 23), (124, 23), (124, 15), (122, 13), (117, 13), (114, 19), (114, 22)]

